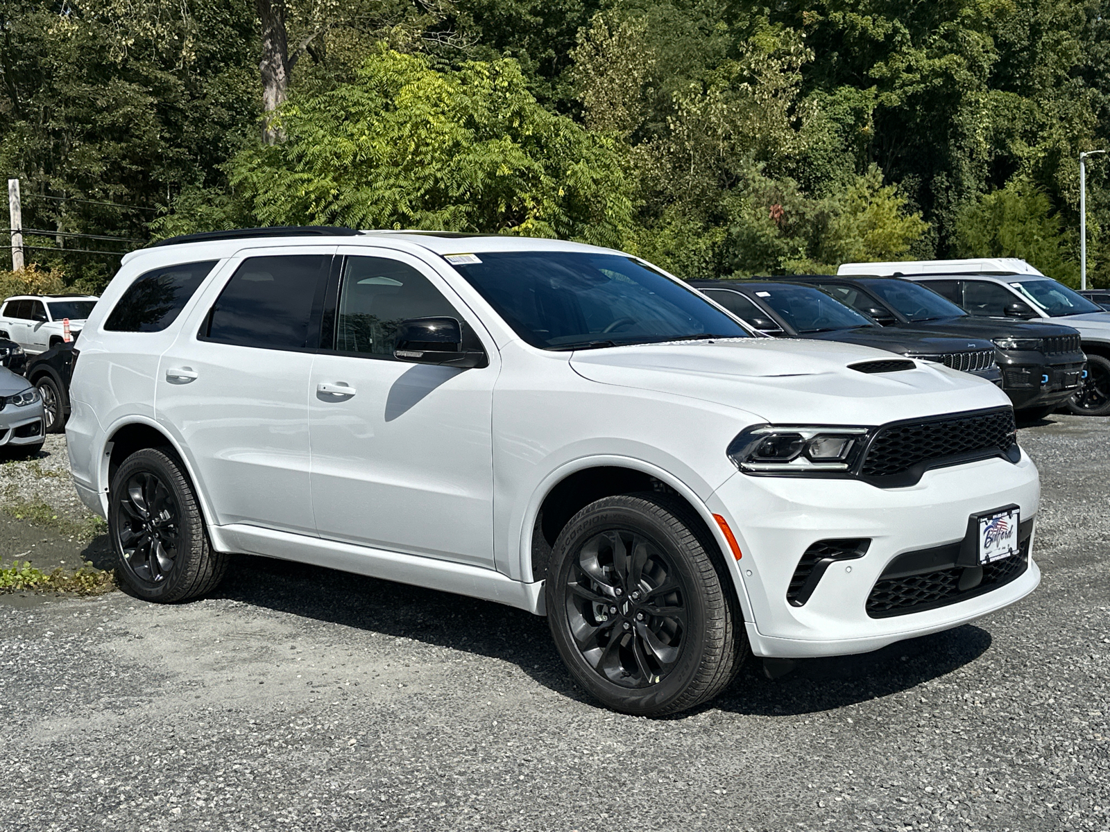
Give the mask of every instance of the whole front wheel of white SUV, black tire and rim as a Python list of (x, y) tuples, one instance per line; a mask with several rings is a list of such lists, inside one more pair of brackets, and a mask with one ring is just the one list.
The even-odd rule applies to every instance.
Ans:
[(660, 717), (717, 696), (746, 633), (716, 544), (677, 499), (605, 497), (559, 532), (547, 621), (575, 680), (606, 707)]

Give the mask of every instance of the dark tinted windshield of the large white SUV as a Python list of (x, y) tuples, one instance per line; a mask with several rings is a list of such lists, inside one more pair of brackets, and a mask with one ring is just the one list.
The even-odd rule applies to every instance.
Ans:
[[(483, 252), (458, 270), (542, 349), (751, 337), (726, 313), (634, 258), (592, 252)], [(462, 257), (458, 257), (462, 260)]]

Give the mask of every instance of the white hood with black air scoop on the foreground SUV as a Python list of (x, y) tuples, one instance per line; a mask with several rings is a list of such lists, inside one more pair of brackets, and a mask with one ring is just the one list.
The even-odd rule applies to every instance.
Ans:
[(990, 382), (937, 364), (848, 368), (882, 359), (896, 356), (852, 344), (744, 338), (578, 351), (571, 367), (601, 384), (712, 402), (770, 423), (880, 425), (1010, 404)]

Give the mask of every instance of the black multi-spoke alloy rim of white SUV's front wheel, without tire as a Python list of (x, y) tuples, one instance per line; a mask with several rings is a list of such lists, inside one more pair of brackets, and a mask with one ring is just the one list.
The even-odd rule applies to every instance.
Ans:
[(566, 615), (586, 663), (623, 688), (670, 676), (689, 590), (655, 542), (633, 529), (603, 531), (578, 549), (569, 578)]

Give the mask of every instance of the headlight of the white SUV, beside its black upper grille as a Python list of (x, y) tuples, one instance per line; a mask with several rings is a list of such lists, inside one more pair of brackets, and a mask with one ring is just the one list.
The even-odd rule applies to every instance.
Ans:
[(862, 450), (870, 428), (821, 425), (757, 425), (728, 446), (728, 458), (741, 471), (806, 474), (848, 470)]

